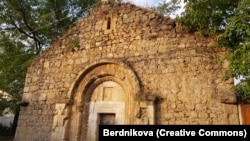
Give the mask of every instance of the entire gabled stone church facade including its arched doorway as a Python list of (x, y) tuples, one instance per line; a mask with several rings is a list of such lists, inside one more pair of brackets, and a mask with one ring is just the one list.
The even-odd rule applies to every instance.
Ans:
[(99, 124), (239, 124), (215, 39), (103, 2), (28, 68), (16, 141), (95, 141)]

